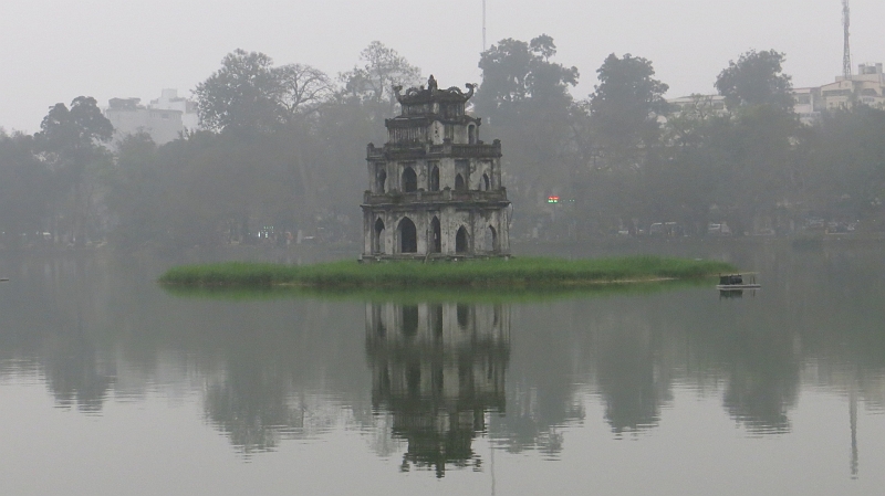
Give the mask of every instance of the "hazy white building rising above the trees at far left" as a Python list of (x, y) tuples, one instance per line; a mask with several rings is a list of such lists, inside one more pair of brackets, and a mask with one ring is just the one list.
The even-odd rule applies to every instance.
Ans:
[(111, 98), (104, 114), (114, 126), (114, 143), (128, 135), (147, 133), (157, 145), (178, 139), (185, 129), (197, 129), (196, 103), (180, 98), (176, 89), (164, 89), (162, 96), (140, 105), (140, 98)]

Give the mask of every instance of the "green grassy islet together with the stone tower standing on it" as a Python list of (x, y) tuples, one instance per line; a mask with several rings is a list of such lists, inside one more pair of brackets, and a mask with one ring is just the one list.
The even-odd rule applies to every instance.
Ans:
[(545, 292), (603, 283), (698, 278), (735, 267), (723, 262), (631, 256), (604, 260), (513, 258), (501, 141), (479, 139), (467, 114), (473, 95), (427, 86), (396, 97), (388, 141), (367, 146), (360, 262), (291, 266), (228, 262), (175, 267), (160, 283), (177, 287), (315, 289), (493, 288)]

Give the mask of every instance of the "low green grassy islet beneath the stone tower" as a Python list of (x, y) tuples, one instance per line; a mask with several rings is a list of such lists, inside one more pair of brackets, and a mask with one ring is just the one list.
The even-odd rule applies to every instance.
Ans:
[(159, 282), (179, 287), (512, 288), (688, 279), (732, 271), (735, 267), (725, 262), (658, 256), (372, 264), (342, 261), (314, 265), (223, 262), (173, 267)]

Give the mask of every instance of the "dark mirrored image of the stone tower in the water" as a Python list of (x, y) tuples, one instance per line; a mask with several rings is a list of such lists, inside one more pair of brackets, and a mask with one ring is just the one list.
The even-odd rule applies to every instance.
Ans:
[(508, 305), (368, 304), (366, 353), (373, 408), (408, 442), (400, 469), (481, 466), (472, 441), (504, 411)]

